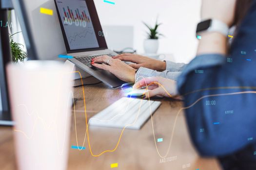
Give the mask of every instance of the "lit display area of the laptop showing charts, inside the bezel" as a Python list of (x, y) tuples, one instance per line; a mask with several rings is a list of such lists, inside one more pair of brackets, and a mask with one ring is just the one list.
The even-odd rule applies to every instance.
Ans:
[(98, 48), (97, 36), (86, 1), (58, 0), (57, 6), (70, 50)]

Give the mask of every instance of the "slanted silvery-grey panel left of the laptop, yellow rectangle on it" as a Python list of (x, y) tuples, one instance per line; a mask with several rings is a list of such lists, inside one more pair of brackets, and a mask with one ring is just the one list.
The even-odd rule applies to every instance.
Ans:
[[(31, 35), (35, 37), (34, 42), (39, 60), (57, 60), (59, 54), (66, 53), (54, 0), (13, 1), (22, 6), (23, 14), (21, 16), (27, 16), (26, 27), (29, 28)], [(41, 8), (53, 10), (53, 15), (41, 13)], [(20, 17), (20, 15), (17, 16)], [(20, 25), (22, 27), (21, 22)]]

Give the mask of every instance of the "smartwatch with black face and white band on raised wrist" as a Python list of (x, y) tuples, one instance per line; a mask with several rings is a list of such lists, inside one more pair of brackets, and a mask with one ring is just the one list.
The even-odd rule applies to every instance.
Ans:
[(204, 32), (218, 32), (228, 36), (229, 27), (224, 22), (217, 19), (207, 19), (197, 24), (196, 36), (201, 36)]

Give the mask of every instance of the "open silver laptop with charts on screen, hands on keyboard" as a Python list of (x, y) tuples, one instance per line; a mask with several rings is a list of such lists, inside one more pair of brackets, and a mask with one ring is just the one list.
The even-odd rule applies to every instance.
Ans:
[(108, 49), (93, 0), (55, 0), (68, 58), (79, 68), (112, 88), (131, 83), (119, 80), (109, 71), (91, 65), (100, 55), (115, 56)]

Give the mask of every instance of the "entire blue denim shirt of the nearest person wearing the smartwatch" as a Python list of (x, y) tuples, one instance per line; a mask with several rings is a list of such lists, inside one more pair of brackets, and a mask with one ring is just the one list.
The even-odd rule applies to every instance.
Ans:
[[(197, 56), (177, 79), (189, 134), (201, 155), (256, 146), (255, 18), (256, 0), (237, 28), (228, 56)], [(253, 153), (246, 156), (256, 161)]]

